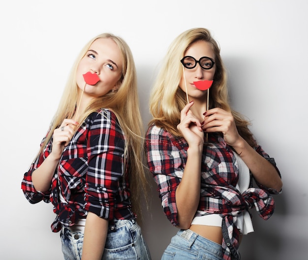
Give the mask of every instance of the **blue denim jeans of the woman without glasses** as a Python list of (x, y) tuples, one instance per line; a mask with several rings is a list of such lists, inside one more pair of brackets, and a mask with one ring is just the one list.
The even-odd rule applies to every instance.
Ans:
[[(84, 232), (61, 230), (64, 260), (81, 260)], [(102, 260), (151, 260), (141, 228), (135, 220), (115, 220), (109, 226)]]

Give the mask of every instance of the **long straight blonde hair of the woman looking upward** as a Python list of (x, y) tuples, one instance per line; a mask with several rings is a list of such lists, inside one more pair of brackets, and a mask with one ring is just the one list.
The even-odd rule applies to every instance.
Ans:
[[(81, 50), (72, 66), (58, 110), (52, 120), (49, 133), (41, 146), (39, 154), (52, 138), (53, 131), (59, 128), (65, 118), (72, 118), (76, 106), (79, 88), (76, 83), (76, 71), (79, 62), (86, 55), (91, 44), (99, 38), (110, 38), (119, 47), (123, 57), (122, 76), (117, 92), (109, 92), (102, 97), (94, 98), (77, 121), (82, 123), (92, 112), (100, 108), (111, 109), (117, 116), (121, 129), (125, 134), (125, 158), (129, 161), (129, 181), (132, 208), (135, 214), (141, 214), (141, 198), (145, 197), (147, 179), (144, 172), (143, 124), (140, 114), (137, 90), (136, 68), (132, 53), (126, 42), (111, 33), (99, 34), (92, 38)], [(76, 128), (77, 129), (77, 128)], [(127, 163), (127, 162), (126, 162)]]

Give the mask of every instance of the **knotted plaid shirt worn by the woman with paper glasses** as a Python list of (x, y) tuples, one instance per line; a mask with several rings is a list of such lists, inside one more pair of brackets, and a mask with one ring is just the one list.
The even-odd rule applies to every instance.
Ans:
[[(224, 259), (227, 260), (231, 259), (231, 251), (233, 254), (238, 253), (237, 215), (255, 207), (260, 217), (268, 219), (274, 213), (275, 205), (270, 194), (278, 192), (258, 184), (258, 189), (249, 188), (244, 194), (240, 194), (236, 189), (239, 170), (231, 147), (217, 134), (211, 134), (208, 138), (209, 144), (204, 145), (202, 155), (200, 203), (196, 216), (219, 214), (223, 217), (222, 227), (225, 230), (222, 231), (228, 237), (224, 236), (222, 247)], [(158, 187), (163, 211), (174, 226), (179, 225), (175, 192), (183, 176), (187, 149), (188, 144), (184, 138), (174, 137), (162, 128), (153, 125), (147, 131), (148, 165)], [(269, 158), (261, 146), (255, 149), (276, 167), (275, 160)], [(251, 174), (250, 177), (252, 187)], [(236, 256), (232, 259), (236, 259)]]

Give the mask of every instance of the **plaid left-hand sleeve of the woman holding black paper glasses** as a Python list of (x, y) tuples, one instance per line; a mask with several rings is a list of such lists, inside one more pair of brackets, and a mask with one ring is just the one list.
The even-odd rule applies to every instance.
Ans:
[(158, 186), (159, 197), (165, 215), (172, 225), (177, 221), (175, 192), (183, 176), (183, 161), (180, 151), (172, 145), (173, 138), (161, 128), (152, 126), (146, 135), (146, 152), (149, 169)]

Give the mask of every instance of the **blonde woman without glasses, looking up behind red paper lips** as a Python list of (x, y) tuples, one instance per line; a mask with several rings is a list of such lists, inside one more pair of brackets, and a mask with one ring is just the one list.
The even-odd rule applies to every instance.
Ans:
[(136, 217), (144, 195), (135, 65), (104, 33), (81, 51), (22, 189), (52, 202), (65, 260), (151, 259)]

